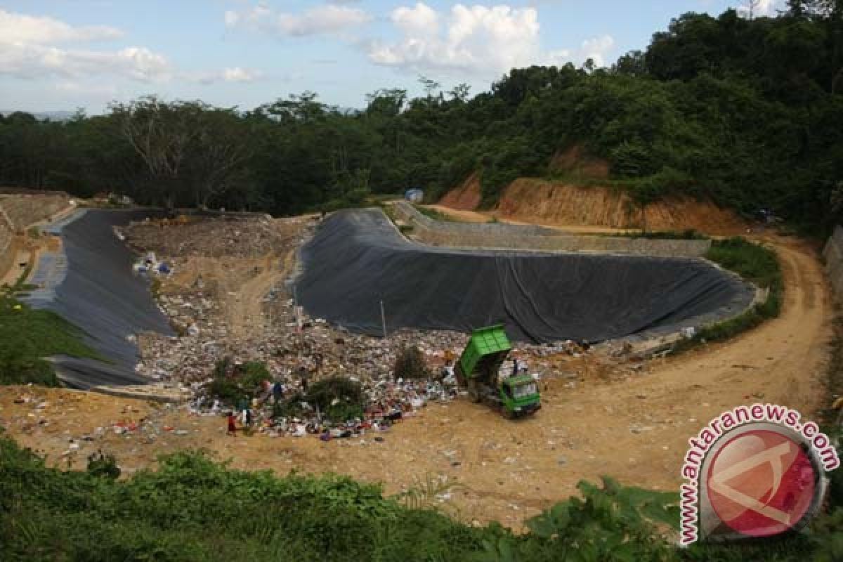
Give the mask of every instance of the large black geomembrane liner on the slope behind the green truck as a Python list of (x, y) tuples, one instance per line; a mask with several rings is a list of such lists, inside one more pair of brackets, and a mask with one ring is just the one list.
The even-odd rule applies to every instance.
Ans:
[(353, 331), (504, 324), (513, 340), (618, 338), (723, 318), (754, 289), (705, 260), (444, 249), (402, 237), (376, 209), (339, 211), (300, 254), (298, 300)]

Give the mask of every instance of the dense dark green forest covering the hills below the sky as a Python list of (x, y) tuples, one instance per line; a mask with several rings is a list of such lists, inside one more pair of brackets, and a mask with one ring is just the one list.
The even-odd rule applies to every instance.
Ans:
[(149, 95), (67, 121), (0, 115), (0, 185), (289, 215), (436, 198), (479, 173), (491, 206), (576, 146), (641, 203), (765, 207), (816, 233), (843, 218), (843, 0), (685, 13), (611, 67), (513, 68), (476, 95), (420, 80), (425, 94), (382, 88), (362, 110), (304, 92), (251, 110)]

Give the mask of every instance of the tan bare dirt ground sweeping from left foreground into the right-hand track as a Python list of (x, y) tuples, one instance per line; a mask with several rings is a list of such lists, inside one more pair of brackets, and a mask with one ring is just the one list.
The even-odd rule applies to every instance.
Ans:
[[(813, 417), (822, 399), (820, 378), (830, 338), (830, 297), (818, 256), (797, 240), (771, 238), (786, 281), (780, 318), (724, 344), (684, 356), (647, 361), (615, 373), (596, 362), (560, 357), (573, 377), (543, 383), (543, 408), (533, 418), (510, 421), (485, 406), (460, 399), (434, 404), (391, 431), (356, 440), (319, 442), (314, 437), (225, 435), (225, 420), (184, 409), (91, 393), (8, 388), (0, 393), (0, 420), (27, 447), (46, 452), (48, 463), (82, 468), (97, 448), (113, 452), (124, 472), (154, 466), (159, 453), (206, 447), (235, 468), (334, 471), (384, 482), (400, 491), (426, 475), (464, 484), (452, 504), (467, 521), (497, 520), (518, 527), (525, 517), (575, 493), (580, 479), (609, 474), (626, 484), (663, 490), (679, 485), (687, 439), (722, 410), (755, 401), (785, 404)], [(620, 372), (620, 376), (617, 373)], [(578, 373), (578, 374), (577, 374)], [(37, 395), (28, 404), (13, 404)], [(41, 399), (49, 402), (38, 409)], [(108, 430), (82, 449), (67, 452), (97, 427), (118, 420), (148, 420), (149, 431), (116, 435)], [(46, 420), (47, 425), (40, 423)], [(164, 426), (186, 430), (186, 435)], [(158, 432), (158, 436), (154, 433)], [(151, 437), (153, 436), (154, 439)]]

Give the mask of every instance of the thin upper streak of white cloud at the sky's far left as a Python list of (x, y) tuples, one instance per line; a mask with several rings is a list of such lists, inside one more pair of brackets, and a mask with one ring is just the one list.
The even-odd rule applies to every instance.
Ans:
[(0, 40), (5, 43), (51, 45), (72, 41), (111, 40), (122, 35), (120, 29), (113, 27), (72, 27), (58, 19), (0, 9)]

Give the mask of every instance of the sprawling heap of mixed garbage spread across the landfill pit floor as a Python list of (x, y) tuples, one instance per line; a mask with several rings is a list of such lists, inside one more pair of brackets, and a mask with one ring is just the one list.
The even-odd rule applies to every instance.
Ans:
[[(133, 225), (128, 238), (136, 247), (168, 256), (168, 263), (180, 264), (182, 273), (186, 265), (181, 261), (191, 255), (205, 260), (193, 267), (197, 263), (215, 268), (221, 264), (242, 270), (242, 276), (229, 276), (231, 287), (258, 275), (258, 266), (250, 260), (265, 257), (262, 253), (267, 252), (277, 256), (280, 249), (292, 251), (312, 234), (315, 224), (304, 217), (282, 221), (214, 219), (178, 225), (177, 233), (168, 231), (162, 236), (158, 225), (147, 222)], [(271, 436), (341, 438), (384, 431), (427, 404), (448, 402), (461, 392), (453, 364), (464, 349), (467, 334), (416, 329), (396, 330), (386, 338), (354, 334), (322, 318), (309, 317), (296, 306), (288, 280), (261, 298), (260, 318), (251, 317), (252, 325), (259, 329), (238, 332), (231, 329), (226, 308), (239, 302), (240, 293), (221, 289), (210, 271), (198, 273), (181, 276), (185, 286), (174, 279), (158, 292), (159, 306), (180, 328), (180, 335), (140, 335), (137, 343), (142, 360), (136, 368), (155, 380), (189, 386), (193, 396), (189, 408), (196, 415), (236, 416), (241, 427)], [(236, 279), (234, 284), (232, 279)], [(396, 359), (405, 347), (418, 348), (431, 377), (396, 379)], [(519, 372), (539, 380), (562, 376), (556, 371), (558, 356), (576, 358), (586, 353), (588, 345), (568, 340), (519, 345), (513, 357), (519, 361)], [(260, 387), (250, 381), (251, 387), (243, 388), (249, 398), (245, 404), (241, 400), (224, 402), (209, 391), (223, 361), (234, 366), (258, 362), (266, 367), (266, 380), (260, 381)], [(362, 411), (332, 417), (310, 403), (306, 399), (308, 385), (327, 377), (346, 377), (359, 383)], [(298, 402), (292, 404), (295, 407), (289, 404), (293, 397)]]

